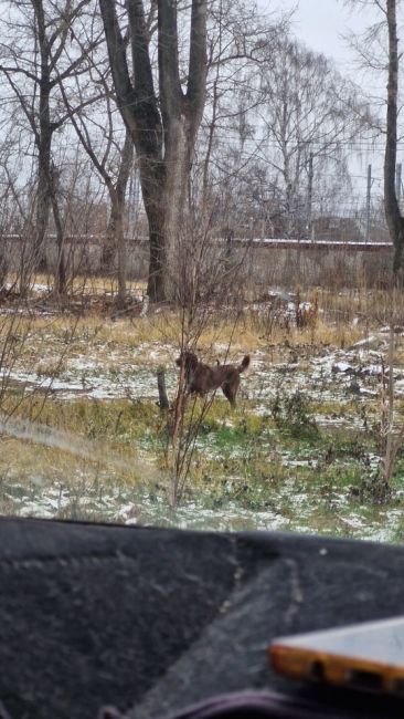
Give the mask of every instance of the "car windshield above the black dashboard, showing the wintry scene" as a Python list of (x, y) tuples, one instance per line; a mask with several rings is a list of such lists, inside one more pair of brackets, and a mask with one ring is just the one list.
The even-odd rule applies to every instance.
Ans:
[(401, 541), (394, 19), (174, 4), (1, 3), (0, 513)]

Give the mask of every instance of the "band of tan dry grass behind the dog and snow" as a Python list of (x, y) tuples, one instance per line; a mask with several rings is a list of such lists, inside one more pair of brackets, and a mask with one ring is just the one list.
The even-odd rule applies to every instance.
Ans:
[[(216, 316), (210, 322), (198, 337), (198, 347), (212, 355), (223, 357), (226, 347), (233, 352), (253, 352), (267, 348), (268, 345), (287, 343), (298, 345), (334, 345), (347, 347), (363, 337), (369, 331), (380, 326), (374, 322), (348, 323), (343, 320), (333, 321), (326, 313), (319, 315), (309, 326), (296, 327), (275, 323), (270, 332), (258, 315), (246, 312), (238, 317), (231, 314)], [(33, 315), (22, 317), (18, 326), (12, 316), (0, 321), (0, 337), (3, 340), (13, 334), (19, 346), (20, 359), (38, 361), (46, 357), (49, 362), (53, 350), (56, 355), (64, 350), (68, 354), (83, 352), (83, 346), (98, 347), (107, 355), (111, 350), (119, 348), (130, 352), (137, 350), (137, 362), (152, 362), (148, 347), (156, 343), (168, 347), (179, 347), (181, 342), (181, 317), (173, 311), (150, 314), (147, 317), (121, 317), (115, 321), (110, 317), (89, 314), (75, 317), (68, 314), (52, 317)], [(29, 337), (29, 342), (24, 338)], [(145, 345), (143, 353), (141, 346)], [(146, 346), (147, 345), (147, 346)], [(140, 348), (140, 353), (139, 353)]]

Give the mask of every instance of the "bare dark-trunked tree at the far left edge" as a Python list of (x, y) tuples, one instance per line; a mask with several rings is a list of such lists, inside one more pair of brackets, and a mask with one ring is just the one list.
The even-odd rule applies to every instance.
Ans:
[[(52, 209), (59, 244), (56, 291), (65, 289), (65, 257), (62, 219), (57, 202), (60, 170), (52, 158), (55, 133), (66, 122), (54, 93), (62, 79), (79, 73), (99, 39), (91, 45), (77, 42), (73, 23), (91, 0), (3, 0), (9, 18), (3, 22), (8, 41), (0, 45), (0, 71), (7, 79), (32, 132), (38, 154), (36, 213), (32, 260), (42, 259), (44, 237)], [(77, 33), (77, 34), (75, 34)], [(57, 72), (56, 72), (57, 67)], [(78, 108), (75, 108), (78, 112)]]

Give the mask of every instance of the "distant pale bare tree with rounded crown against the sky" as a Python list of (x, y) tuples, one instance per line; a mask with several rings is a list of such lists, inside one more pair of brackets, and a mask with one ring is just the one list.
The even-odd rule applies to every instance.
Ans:
[(363, 131), (368, 103), (323, 55), (287, 37), (261, 65), (261, 86), (258, 116), (266, 135), (261, 153), (272, 168), (284, 232), (302, 237), (311, 223), (316, 175), (332, 167), (334, 197), (340, 177), (349, 183), (347, 143)]

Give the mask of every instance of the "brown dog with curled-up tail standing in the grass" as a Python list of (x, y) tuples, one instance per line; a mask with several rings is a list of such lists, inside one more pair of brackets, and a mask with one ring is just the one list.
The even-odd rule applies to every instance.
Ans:
[(176, 364), (179, 367), (184, 367), (188, 393), (202, 396), (220, 387), (230, 404), (234, 406), (240, 387), (240, 374), (249, 366), (249, 355), (246, 354), (238, 366), (217, 365), (211, 367), (200, 362), (193, 352), (181, 352)]

